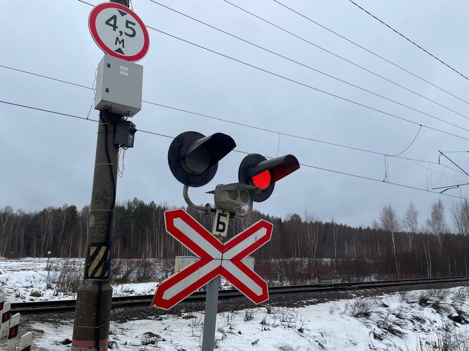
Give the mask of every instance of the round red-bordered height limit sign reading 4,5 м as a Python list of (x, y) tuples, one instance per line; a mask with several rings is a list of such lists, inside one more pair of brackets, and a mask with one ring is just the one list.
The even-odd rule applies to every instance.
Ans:
[(91, 37), (108, 55), (134, 62), (148, 52), (150, 39), (145, 24), (124, 5), (96, 5), (89, 14), (88, 27)]

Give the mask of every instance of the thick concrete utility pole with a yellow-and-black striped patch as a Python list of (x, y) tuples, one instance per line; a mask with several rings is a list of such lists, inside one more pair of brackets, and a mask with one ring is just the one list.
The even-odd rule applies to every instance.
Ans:
[[(110, 2), (128, 7), (128, 0)], [(99, 114), (85, 274), (77, 293), (71, 351), (107, 350), (112, 302), (110, 253), (119, 152), (114, 136), (116, 123), (122, 117), (107, 111)]]

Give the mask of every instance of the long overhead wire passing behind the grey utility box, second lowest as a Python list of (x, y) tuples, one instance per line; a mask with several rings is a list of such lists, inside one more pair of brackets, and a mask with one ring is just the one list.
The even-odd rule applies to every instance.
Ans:
[[(6, 69), (14, 69), (14, 68), (11, 68), (11, 67), (8, 67), (8, 66), (1, 66), (1, 67), (6, 68)], [(41, 78), (52, 79), (52, 80), (55, 80), (55, 81), (60, 81), (62, 83), (66, 83), (66, 84), (70, 84), (70, 85), (74, 85), (74, 86), (80, 86), (80, 87), (84, 87), (84, 88), (87, 88), (87, 89), (92, 89), (92, 88), (84, 86), (84, 85), (75, 84), (75, 83), (72, 83), (72, 82), (69, 82), (69, 81), (66, 81), (66, 80), (56, 79), (56, 78), (52, 78), (52, 77), (49, 77), (49, 76), (34, 74), (32, 72), (25, 71), (25, 70), (17, 70), (17, 69), (14, 69), (14, 70), (15, 71), (20, 71), (20, 72), (25, 73), (25, 74), (31, 74), (31, 75), (34, 75), (34, 76), (39, 76)], [(3, 101), (3, 102), (8, 103), (8, 102), (5, 102), (5, 101)], [(142, 100), (142, 102), (148, 103), (150, 105), (163, 107), (163, 108), (166, 108), (166, 109), (171, 109), (171, 110), (174, 110), (174, 111), (188, 113), (188, 114), (191, 114), (191, 115), (194, 115), (194, 116), (206, 117), (206, 118), (210, 118), (210, 119), (213, 119), (213, 120), (218, 120), (218, 121), (231, 123), (231, 124), (235, 124), (235, 125), (239, 125), (239, 126), (243, 126), (243, 127), (247, 127), (247, 128), (261, 130), (261, 131), (264, 131), (264, 132), (280, 134), (280, 135), (284, 135), (284, 136), (287, 136), (287, 137), (293, 137), (293, 138), (308, 140), (308, 141), (312, 141), (312, 142), (318, 142), (318, 143), (322, 143), (322, 144), (326, 144), (326, 145), (342, 147), (342, 148), (346, 148), (346, 149), (350, 149), (350, 150), (361, 151), (361, 152), (366, 152), (366, 153), (375, 154), (375, 155), (389, 156), (389, 157), (401, 158), (401, 159), (405, 159), (405, 160), (412, 160), (412, 161), (426, 162), (426, 163), (432, 163), (432, 164), (440, 165), (440, 163), (438, 163), (438, 162), (432, 162), (432, 161), (421, 160), (421, 159), (416, 159), (416, 158), (408, 158), (408, 157), (403, 157), (403, 156), (391, 156), (391, 155), (381, 153), (381, 152), (378, 152), (378, 151), (367, 150), (367, 149), (357, 148), (357, 147), (348, 146), (348, 145), (342, 145), (342, 144), (338, 144), (338, 143), (333, 143), (333, 142), (319, 140), (319, 139), (313, 139), (313, 138), (309, 138), (309, 137), (301, 137), (301, 136), (294, 135), (294, 134), (282, 133), (282, 132), (278, 132), (278, 131), (267, 129), (267, 128), (256, 127), (256, 126), (245, 124), (245, 123), (235, 122), (235, 121), (232, 121), (232, 120), (229, 120), (229, 119), (213, 117), (213, 116), (210, 116), (210, 115), (207, 115), (207, 114), (201, 114), (201, 113), (197, 113), (197, 112), (193, 112), (193, 111), (189, 111), (189, 110), (185, 110), (185, 109), (181, 109), (181, 108), (177, 108), (177, 107), (173, 107), (173, 106), (159, 104), (159, 103), (152, 102), (152, 101)], [(82, 118), (82, 117), (77, 117), (77, 118)], [(150, 133), (150, 132), (148, 132), (148, 133)], [(168, 136), (166, 136), (166, 137), (168, 137)], [(441, 165), (441, 166), (447, 167), (452, 171), (464, 174), (463, 172), (458, 171), (457, 169), (454, 169), (454, 168), (449, 167), (447, 165)]]

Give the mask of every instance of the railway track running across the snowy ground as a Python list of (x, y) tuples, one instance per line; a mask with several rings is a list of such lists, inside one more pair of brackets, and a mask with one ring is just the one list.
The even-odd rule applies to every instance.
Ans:
[[(293, 285), (269, 287), (269, 294), (290, 294), (298, 292), (336, 292), (336, 291), (355, 291), (365, 289), (379, 289), (384, 287), (399, 287), (411, 285), (432, 285), (437, 283), (455, 283), (469, 281), (469, 276), (456, 276), (445, 278), (418, 278), (418, 279), (400, 279), (400, 280), (380, 280), (373, 282), (347, 282), (347, 283), (322, 283), (312, 285)], [(220, 290), (218, 300), (230, 300), (235, 297), (243, 296), (234, 289)], [(112, 298), (112, 309), (124, 307), (149, 306), (153, 294), (137, 296), (117, 296)], [(205, 292), (194, 292), (186, 298), (184, 302), (203, 302), (205, 301)], [(55, 301), (36, 301), (12, 303), (11, 311), (14, 313), (25, 314), (55, 314), (75, 311), (76, 300), (55, 300)]]

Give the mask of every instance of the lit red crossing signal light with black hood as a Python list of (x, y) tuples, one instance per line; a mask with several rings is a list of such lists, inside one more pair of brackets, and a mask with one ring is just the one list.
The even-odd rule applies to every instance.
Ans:
[(272, 195), (276, 181), (298, 168), (298, 159), (293, 155), (267, 159), (259, 154), (250, 154), (244, 157), (239, 165), (238, 181), (259, 188), (260, 192), (251, 193), (251, 200), (262, 202)]

